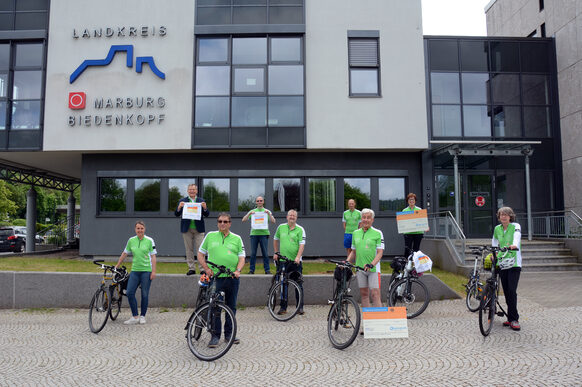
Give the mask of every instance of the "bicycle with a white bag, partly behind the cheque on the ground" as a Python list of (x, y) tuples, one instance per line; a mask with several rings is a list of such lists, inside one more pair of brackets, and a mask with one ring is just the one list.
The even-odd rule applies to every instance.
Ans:
[(407, 319), (422, 314), (430, 302), (430, 293), (419, 279), (422, 273), (416, 272), (412, 257), (413, 253), (408, 258), (394, 257), (390, 263), (393, 271), (386, 295), (388, 306), (406, 307)]

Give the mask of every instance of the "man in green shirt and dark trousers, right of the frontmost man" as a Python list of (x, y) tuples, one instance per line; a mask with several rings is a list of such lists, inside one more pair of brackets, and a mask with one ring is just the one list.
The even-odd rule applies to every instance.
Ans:
[[(297, 224), (297, 211), (289, 210), (287, 212), (287, 223), (279, 225), (275, 236), (273, 237), (273, 249), (275, 252), (280, 252), (282, 256), (289, 259), (294, 259), (295, 262), (289, 264), (287, 268), (288, 273), (299, 272), (303, 273), (303, 250), (305, 249), (305, 229)], [(279, 246), (281, 250), (279, 250)], [(273, 259), (278, 260), (278, 255), (275, 254)], [(284, 265), (284, 263), (281, 263)], [(279, 265), (279, 263), (277, 263)], [(292, 274), (291, 274), (292, 275)], [(303, 281), (297, 281), (299, 288), (303, 290)], [(286, 292), (286, 290), (285, 290)], [(299, 294), (295, 294), (296, 299), (299, 298)], [(303, 311), (303, 298), (299, 301), (299, 314), (305, 314)], [(281, 309), (277, 314), (285, 314), (287, 312), (287, 305), (281, 304)]]

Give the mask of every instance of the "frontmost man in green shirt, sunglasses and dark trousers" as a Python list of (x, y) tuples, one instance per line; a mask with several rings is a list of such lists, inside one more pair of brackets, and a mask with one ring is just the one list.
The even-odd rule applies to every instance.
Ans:
[[(238, 296), (240, 272), (245, 265), (245, 248), (240, 236), (230, 232), (231, 219), (230, 214), (225, 212), (218, 215), (218, 231), (212, 231), (206, 234), (200, 249), (198, 250), (198, 263), (209, 277), (218, 273), (218, 269), (210, 269), (206, 263), (205, 256), (215, 265), (226, 266), (234, 271), (234, 278), (222, 274), (221, 277), (215, 278), (216, 291), (224, 292), (224, 302), (232, 309), (236, 315), (236, 299)], [(220, 327), (220, 320), (216, 321), (216, 326)], [(228, 341), (232, 335), (232, 321), (227, 320), (224, 323), (224, 338)], [(220, 340), (220, 328), (218, 336), (212, 337), (208, 347), (215, 348)], [(234, 344), (240, 343), (238, 338), (234, 339)]]

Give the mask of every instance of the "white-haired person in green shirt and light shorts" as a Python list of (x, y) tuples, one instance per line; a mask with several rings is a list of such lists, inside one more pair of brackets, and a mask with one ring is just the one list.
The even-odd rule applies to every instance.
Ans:
[(366, 271), (356, 273), (362, 308), (370, 306), (370, 297), (374, 307), (381, 307), (380, 300), (380, 260), (384, 254), (384, 234), (374, 223), (374, 211), (369, 208), (362, 210), (362, 227), (354, 231), (352, 235), (352, 251), (348, 255), (348, 262), (364, 267)]

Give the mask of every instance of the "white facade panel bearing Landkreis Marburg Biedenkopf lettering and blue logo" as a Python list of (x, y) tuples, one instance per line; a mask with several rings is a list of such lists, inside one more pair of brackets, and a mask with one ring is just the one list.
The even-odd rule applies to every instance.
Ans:
[[(166, 28), (165, 36), (160, 27)], [(105, 29), (113, 28), (111, 37)], [(118, 28), (125, 27), (125, 36)], [(128, 36), (129, 28), (138, 30)], [(142, 27), (147, 28), (142, 36)], [(94, 29), (103, 29), (94, 37)], [(87, 29), (91, 37), (82, 37)], [(154, 30), (155, 29), (155, 30)], [(79, 35), (74, 38), (74, 32)], [(85, 70), (73, 83), (69, 77), (86, 59), (103, 59), (112, 45), (133, 45), (133, 67), (126, 53), (115, 55), (108, 66)], [(58, 0), (51, 2), (47, 82), (44, 117), (45, 151), (52, 150), (156, 150), (190, 149), (192, 137), (192, 76), (194, 50), (194, 2), (191, 0)], [(152, 56), (165, 73), (157, 77), (144, 65), (136, 72), (136, 57)], [(69, 109), (70, 92), (85, 92), (87, 106)], [(153, 98), (154, 107), (136, 107), (135, 98)], [(94, 100), (124, 100), (123, 107), (95, 108)], [(133, 99), (132, 107), (125, 100)], [(163, 98), (161, 107), (158, 99)], [(105, 123), (107, 116), (112, 124)], [(122, 115), (123, 124), (115, 124)], [(75, 117), (71, 125), (70, 116)], [(101, 117), (97, 124), (96, 116)], [(128, 124), (128, 118), (131, 120)], [(140, 117), (145, 122), (140, 125)], [(150, 120), (150, 116), (154, 116)], [(80, 118), (79, 118), (80, 117)], [(88, 121), (86, 117), (89, 117)]]

